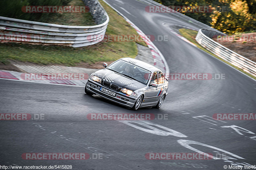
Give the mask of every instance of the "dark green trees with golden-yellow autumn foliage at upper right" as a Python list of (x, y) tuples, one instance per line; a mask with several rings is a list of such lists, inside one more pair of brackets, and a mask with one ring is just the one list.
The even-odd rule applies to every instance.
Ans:
[[(184, 15), (212, 26), (224, 33), (256, 30), (255, 0), (155, 0), (165, 6), (209, 6), (212, 13), (190, 13)], [(225, 7), (225, 8), (223, 8)], [(219, 10), (220, 9), (220, 10)], [(223, 11), (226, 9), (226, 11)]]

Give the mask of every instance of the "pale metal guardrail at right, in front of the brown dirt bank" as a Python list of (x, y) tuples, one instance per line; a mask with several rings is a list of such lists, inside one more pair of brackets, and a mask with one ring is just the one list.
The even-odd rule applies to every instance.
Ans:
[(211, 51), (213, 54), (219, 56), (223, 60), (235, 65), (247, 73), (256, 77), (256, 63), (234, 51), (222, 46), (216, 41), (212, 40), (214, 35), (225, 35), (214, 31), (200, 29), (196, 35), (196, 41), (204, 48)]

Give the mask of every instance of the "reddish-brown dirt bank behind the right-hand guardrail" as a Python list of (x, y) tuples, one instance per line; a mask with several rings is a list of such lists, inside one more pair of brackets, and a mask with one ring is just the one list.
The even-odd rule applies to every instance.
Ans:
[[(240, 54), (254, 62), (256, 62), (256, 33), (244, 33), (240, 34), (241, 38), (237, 36), (229, 38), (213, 38), (214, 41), (220, 43), (224, 47)], [(247, 36), (249, 37), (246, 41)], [(251, 41), (248, 41), (251, 40)]]

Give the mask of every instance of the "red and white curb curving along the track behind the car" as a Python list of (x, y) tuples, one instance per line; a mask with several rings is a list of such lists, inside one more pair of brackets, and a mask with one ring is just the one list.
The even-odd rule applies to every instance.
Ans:
[[(108, 2), (106, 2), (105, 0), (103, 0), (106, 4), (108, 4)], [(146, 39), (146, 44), (148, 45), (148, 48), (150, 48), (151, 50), (151, 54), (154, 58), (154, 66), (156, 66), (157, 68), (159, 68), (160, 70), (162, 70), (165, 74), (169, 74), (169, 66), (164, 58), (164, 56), (162, 55), (162, 53), (159, 51), (159, 49), (155, 46), (155, 44), (150, 41), (150, 39), (140, 30), (140, 28), (138, 28), (135, 24), (132, 23), (132, 21), (130, 21), (128, 18), (126, 18), (121, 12), (119, 12), (118, 10), (116, 10), (112, 5), (108, 4), (108, 6), (110, 6), (113, 10), (115, 10), (119, 15), (121, 15), (126, 22), (128, 22), (135, 30), (136, 32), (141, 36), (141, 38), (145, 38)]]

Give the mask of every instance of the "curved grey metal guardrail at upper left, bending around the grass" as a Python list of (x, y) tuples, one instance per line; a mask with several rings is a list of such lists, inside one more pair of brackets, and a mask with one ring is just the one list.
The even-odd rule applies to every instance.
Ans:
[(21, 19), (0, 17), (0, 41), (58, 44), (83, 47), (100, 42), (109, 22), (98, 0), (83, 0), (90, 8), (96, 26), (65, 26)]

